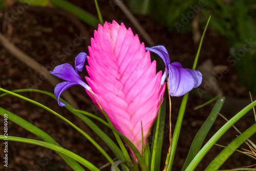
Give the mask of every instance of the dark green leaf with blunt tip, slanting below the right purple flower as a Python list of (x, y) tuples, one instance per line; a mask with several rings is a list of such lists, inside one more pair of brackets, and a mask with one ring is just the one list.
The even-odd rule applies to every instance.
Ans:
[(210, 115), (205, 120), (204, 124), (201, 126), (201, 128), (198, 131), (197, 135), (195, 136), (193, 142), (191, 143), (191, 146), (190, 146), (190, 149), (189, 149), (189, 152), (188, 152), (188, 155), (187, 155), (187, 158), (183, 165), (182, 170), (186, 169), (188, 164), (194, 159), (194, 157), (200, 151), (206, 135), (210, 131), (211, 126), (214, 124), (214, 122), (218, 116), (218, 113), (220, 112), (220, 110), (222, 108), (224, 100), (225, 100), (225, 97), (219, 97), (214, 108), (211, 110)]

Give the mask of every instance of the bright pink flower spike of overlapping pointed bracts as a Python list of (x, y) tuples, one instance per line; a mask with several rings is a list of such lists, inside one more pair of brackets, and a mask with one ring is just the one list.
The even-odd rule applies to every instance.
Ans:
[(142, 153), (141, 121), (146, 143), (165, 90), (156, 62), (138, 36), (115, 21), (99, 25), (87, 59), (87, 93)]

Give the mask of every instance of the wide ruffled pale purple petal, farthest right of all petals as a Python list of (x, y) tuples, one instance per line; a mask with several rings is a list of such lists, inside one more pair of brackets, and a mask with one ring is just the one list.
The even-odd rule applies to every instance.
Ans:
[(202, 82), (202, 74), (196, 70), (182, 68), (179, 62), (173, 62), (169, 66), (169, 93), (171, 96), (182, 96)]

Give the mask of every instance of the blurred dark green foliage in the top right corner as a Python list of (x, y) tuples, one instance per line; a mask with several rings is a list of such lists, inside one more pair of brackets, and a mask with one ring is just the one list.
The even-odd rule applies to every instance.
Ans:
[[(205, 16), (212, 15), (211, 26), (228, 38), (232, 49), (228, 62), (236, 65), (242, 86), (256, 94), (256, 25), (252, 1), (208, 1), (202, 9)], [(248, 44), (251, 41), (251, 44)]]

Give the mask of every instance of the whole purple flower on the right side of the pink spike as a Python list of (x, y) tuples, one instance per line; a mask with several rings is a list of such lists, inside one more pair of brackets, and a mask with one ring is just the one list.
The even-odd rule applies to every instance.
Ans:
[[(165, 63), (168, 76), (169, 93), (171, 96), (182, 96), (202, 83), (202, 74), (196, 70), (183, 68), (179, 62), (170, 63), (169, 55), (164, 46), (145, 48), (158, 54)], [(166, 79), (164, 72), (161, 83)]]

